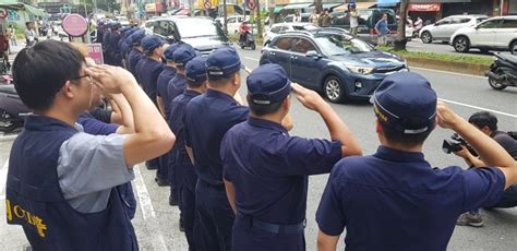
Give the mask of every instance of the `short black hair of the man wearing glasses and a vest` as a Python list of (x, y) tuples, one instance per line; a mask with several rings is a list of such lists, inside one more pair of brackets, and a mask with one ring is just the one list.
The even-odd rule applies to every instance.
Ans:
[(14, 59), (14, 87), (27, 107), (45, 110), (64, 83), (77, 77), (83, 63), (84, 56), (70, 44), (39, 41), (20, 51)]

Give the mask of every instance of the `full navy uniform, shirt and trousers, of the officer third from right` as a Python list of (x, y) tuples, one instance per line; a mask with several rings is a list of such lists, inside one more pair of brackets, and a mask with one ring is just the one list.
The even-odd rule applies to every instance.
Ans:
[(213, 250), (231, 249), (235, 219), (223, 183), (220, 141), (231, 127), (244, 121), (248, 113), (248, 107), (214, 89), (207, 89), (187, 105), (185, 144), (193, 150), (199, 178), (196, 211), (205, 246)]

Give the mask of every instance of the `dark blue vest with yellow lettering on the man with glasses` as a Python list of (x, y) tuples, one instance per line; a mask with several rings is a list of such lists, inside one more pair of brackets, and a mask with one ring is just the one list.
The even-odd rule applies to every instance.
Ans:
[(117, 189), (98, 213), (80, 213), (64, 200), (57, 172), (59, 150), (74, 133), (56, 119), (26, 119), (9, 160), (8, 223), (22, 225), (34, 250), (137, 250)]

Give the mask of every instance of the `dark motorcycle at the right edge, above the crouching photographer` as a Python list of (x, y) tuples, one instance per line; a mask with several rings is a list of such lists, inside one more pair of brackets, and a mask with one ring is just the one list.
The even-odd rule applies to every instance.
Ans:
[(489, 84), (494, 89), (517, 87), (517, 56), (495, 53), (495, 61), (484, 75), (489, 77)]

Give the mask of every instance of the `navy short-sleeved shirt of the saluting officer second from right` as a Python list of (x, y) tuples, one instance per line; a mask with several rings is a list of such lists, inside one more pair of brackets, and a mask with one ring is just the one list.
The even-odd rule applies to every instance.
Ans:
[(308, 176), (329, 172), (341, 143), (290, 136), (279, 123), (249, 118), (226, 133), (220, 156), (239, 214), (298, 224), (305, 218)]

